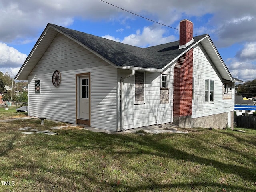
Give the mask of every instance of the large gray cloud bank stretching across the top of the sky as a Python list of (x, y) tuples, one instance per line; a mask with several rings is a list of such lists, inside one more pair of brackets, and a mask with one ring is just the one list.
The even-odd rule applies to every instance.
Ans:
[[(152, 20), (173, 26), (184, 18), (200, 17), (210, 14), (207, 22), (197, 26), (198, 32), (209, 33), (216, 29), (221, 46), (229, 46), (243, 40), (256, 40), (255, 0), (230, 1), (202, 0), (176, 1), (161, 0), (108, 0), (109, 3), (140, 14)], [(221, 6), (220, 6), (221, 4)], [(125, 12), (100, 0), (56, 0), (34, 1), (1, 0), (0, 2), (0, 42), (24, 43), (23, 38), (38, 37), (48, 22), (61, 26), (70, 26), (75, 19), (108, 20), (126, 23), (126, 20), (138, 19), (138, 16)], [(129, 24), (130, 26), (130, 24)]]

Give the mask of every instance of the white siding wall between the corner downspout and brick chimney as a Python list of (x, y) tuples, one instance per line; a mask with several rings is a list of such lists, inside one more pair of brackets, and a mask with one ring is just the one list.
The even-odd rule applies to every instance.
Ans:
[[(134, 77), (124, 80), (124, 128), (136, 128), (172, 122), (173, 67), (168, 80), (170, 102), (160, 104), (162, 76), (156, 72), (145, 72), (145, 104), (134, 105)], [(119, 78), (130, 74), (130, 70), (119, 70)]]

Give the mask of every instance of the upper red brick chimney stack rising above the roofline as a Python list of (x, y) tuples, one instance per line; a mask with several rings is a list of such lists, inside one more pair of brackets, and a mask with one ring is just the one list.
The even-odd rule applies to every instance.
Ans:
[(187, 19), (180, 21), (180, 48), (193, 43), (193, 23)]

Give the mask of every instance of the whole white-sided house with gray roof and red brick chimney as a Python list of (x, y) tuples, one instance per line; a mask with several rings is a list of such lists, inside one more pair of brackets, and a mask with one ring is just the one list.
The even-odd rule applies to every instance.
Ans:
[(208, 34), (139, 48), (48, 24), (16, 76), (29, 115), (120, 131), (233, 126), (234, 78)]

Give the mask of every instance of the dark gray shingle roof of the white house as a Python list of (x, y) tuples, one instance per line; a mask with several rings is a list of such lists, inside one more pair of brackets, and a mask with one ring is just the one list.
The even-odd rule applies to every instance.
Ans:
[[(64, 28), (62, 26), (54, 24), (50, 25), (78, 40), (117, 66), (162, 69), (188, 48), (178, 49), (179, 41), (148, 48), (140, 48)], [(198, 42), (205, 36), (206, 35), (194, 37), (194, 43)]]

